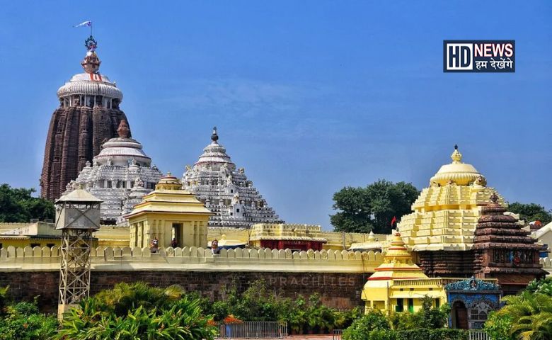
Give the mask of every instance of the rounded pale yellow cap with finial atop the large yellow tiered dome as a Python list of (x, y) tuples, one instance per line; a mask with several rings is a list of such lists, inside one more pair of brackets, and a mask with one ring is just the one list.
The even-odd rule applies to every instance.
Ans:
[(458, 186), (467, 186), (476, 181), (486, 183), (485, 177), (473, 165), (462, 163), (462, 154), (458, 151), (458, 145), (454, 145), (454, 152), (450, 157), (452, 163), (441, 166), (437, 174), (430, 179), (432, 185), (446, 186), (451, 181)]

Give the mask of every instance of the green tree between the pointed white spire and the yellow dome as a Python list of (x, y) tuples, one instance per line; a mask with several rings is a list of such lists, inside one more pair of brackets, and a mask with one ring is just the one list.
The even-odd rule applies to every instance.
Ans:
[(401, 217), (411, 210), (420, 195), (412, 183), (393, 183), (380, 179), (365, 188), (347, 186), (333, 194), (330, 222), (336, 232), (389, 233), (393, 217)]

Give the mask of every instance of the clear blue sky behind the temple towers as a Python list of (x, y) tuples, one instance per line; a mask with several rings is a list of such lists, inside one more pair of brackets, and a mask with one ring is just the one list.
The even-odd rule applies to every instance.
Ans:
[[(100, 72), (132, 135), (180, 176), (212, 126), (287, 222), (329, 229), (332, 195), (422, 188), (455, 143), (510, 202), (552, 208), (552, 2), (3, 1), (0, 182), (34, 186), (56, 91)], [(514, 39), (514, 74), (444, 74), (442, 40)]]

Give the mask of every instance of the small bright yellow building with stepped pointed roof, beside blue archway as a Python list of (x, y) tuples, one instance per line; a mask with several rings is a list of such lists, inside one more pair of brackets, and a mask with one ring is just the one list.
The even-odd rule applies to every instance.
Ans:
[(398, 232), (393, 235), (384, 263), (374, 271), (362, 290), (367, 310), (417, 312), (425, 296), (431, 297), (437, 307), (447, 302), (442, 280), (423, 273)]

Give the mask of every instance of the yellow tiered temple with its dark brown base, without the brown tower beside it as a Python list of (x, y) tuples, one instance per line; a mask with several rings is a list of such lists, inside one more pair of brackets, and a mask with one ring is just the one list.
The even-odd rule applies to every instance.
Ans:
[(487, 186), (485, 176), (471, 164), (461, 162), (462, 155), (454, 147), (452, 163), (441, 166), (405, 215), (398, 229), (417, 263), (429, 276), (471, 277), (473, 275), (473, 232), (481, 208), (497, 195)]

